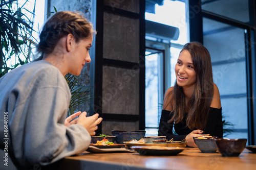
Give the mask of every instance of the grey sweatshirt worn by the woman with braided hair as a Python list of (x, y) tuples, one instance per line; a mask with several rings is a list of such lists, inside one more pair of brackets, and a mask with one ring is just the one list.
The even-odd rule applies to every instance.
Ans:
[(44, 60), (2, 77), (0, 169), (48, 165), (86, 150), (91, 141), (88, 131), (78, 124), (64, 125), (70, 99), (66, 79)]

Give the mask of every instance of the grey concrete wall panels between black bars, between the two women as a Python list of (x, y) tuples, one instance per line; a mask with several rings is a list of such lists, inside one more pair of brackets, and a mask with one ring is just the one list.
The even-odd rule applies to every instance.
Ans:
[[(104, 5), (139, 13), (139, 1), (136, 0), (104, 0)], [(139, 63), (139, 19), (112, 11), (104, 11), (103, 18), (103, 58)], [(103, 114), (139, 115), (139, 71), (103, 65)], [(103, 121), (102, 133), (111, 135), (111, 130), (139, 130), (139, 122)]]

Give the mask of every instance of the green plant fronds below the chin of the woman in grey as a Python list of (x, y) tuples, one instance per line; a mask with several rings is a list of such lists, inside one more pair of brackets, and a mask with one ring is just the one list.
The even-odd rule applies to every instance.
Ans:
[(72, 95), (68, 116), (74, 114), (80, 104), (92, 99), (92, 94), (90, 94), (91, 87), (87, 87), (85, 84), (82, 84), (80, 82), (80, 77), (82, 77), (82, 74), (79, 76), (67, 74), (65, 76)]

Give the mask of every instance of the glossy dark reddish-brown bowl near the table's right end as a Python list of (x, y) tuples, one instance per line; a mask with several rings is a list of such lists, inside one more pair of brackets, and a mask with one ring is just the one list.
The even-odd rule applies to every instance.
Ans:
[(239, 156), (245, 148), (247, 139), (214, 139), (217, 150), (222, 156)]

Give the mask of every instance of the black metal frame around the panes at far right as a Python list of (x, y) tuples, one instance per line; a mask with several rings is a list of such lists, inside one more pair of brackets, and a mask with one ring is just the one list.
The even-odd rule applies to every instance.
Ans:
[(193, 7), (199, 6), (199, 12), (195, 16), (189, 16), (190, 41), (199, 41), (203, 43), (203, 17), (226, 23), (228, 25), (247, 30), (245, 33), (246, 45), (246, 75), (247, 75), (247, 103), (248, 103), (248, 144), (256, 144), (256, 74), (255, 74), (255, 9), (256, 3), (249, 0), (250, 21), (244, 23), (222, 15), (204, 11), (201, 9), (200, 0), (189, 0), (189, 11)]

